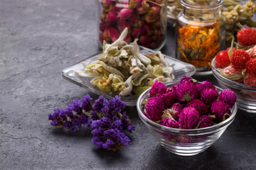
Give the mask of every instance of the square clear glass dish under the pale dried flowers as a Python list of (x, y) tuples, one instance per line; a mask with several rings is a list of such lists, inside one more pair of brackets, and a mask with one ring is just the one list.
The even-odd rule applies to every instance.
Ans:
[[(156, 51), (150, 50), (146, 47), (140, 46), (140, 52), (142, 54), (147, 54), (147, 53), (154, 53), (156, 54)], [(77, 84), (78, 86), (82, 86), (85, 89), (88, 89), (92, 91), (92, 93), (95, 93), (97, 95), (103, 95), (107, 99), (112, 99), (114, 98), (115, 95), (118, 94), (113, 94), (113, 93), (105, 93), (98, 89), (95, 86), (92, 86), (90, 81), (93, 79), (93, 77), (80, 77), (78, 74), (75, 73), (76, 70), (83, 70), (84, 67), (82, 66), (81, 62), (85, 62), (85, 64), (90, 64), (91, 62), (94, 62), (98, 60), (99, 55), (102, 52), (99, 52), (95, 55), (92, 55), (90, 57), (86, 57), (84, 60), (75, 63), (71, 65), (70, 67), (67, 67), (63, 69), (63, 78), (72, 82), (73, 84)], [(193, 67), (192, 64), (188, 64), (186, 62), (181, 62), (179, 60), (174, 59), (173, 57), (164, 55), (164, 60), (169, 63), (171, 67), (174, 68), (174, 81), (181, 79), (182, 76), (188, 76), (191, 77), (193, 74), (196, 73), (196, 68)], [(121, 99), (122, 101), (125, 101), (127, 103), (127, 106), (136, 106), (137, 99), (139, 96), (137, 95), (132, 95), (132, 96), (122, 96)]]

